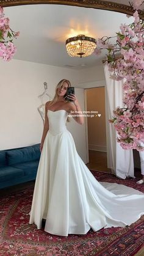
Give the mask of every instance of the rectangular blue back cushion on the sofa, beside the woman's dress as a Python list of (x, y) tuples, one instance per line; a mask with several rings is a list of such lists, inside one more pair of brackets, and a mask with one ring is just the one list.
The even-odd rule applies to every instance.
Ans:
[(30, 147), (16, 148), (14, 150), (7, 151), (7, 163), (9, 164), (9, 166), (13, 166), (13, 164), (39, 160), (39, 145), (40, 144), (36, 144)]

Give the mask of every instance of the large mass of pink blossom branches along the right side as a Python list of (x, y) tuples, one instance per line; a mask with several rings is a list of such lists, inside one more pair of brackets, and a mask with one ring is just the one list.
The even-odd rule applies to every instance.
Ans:
[[(135, 9), (143, 1), (135, 0)], [(98, 49), (107, 49), (107, 63), (111, 71), (110, 78), (124, 79), (123, 103), (113, 111), (113, 123), (118, 132), (118, 142), (124, 149), (142, 150), (140, 141), (144, 141), (144, 21), (134, 12), (134, 22), (121, 24), (117, 41), (113, 45), (110, 37), (98, 40)], [(113, 47), (112, 47), (113, 46)], [(98, 51), (97, 49), (97, 51)], [(98, 51), (99, 52), (99, 51)], [(116, 54), (121, 54), (117, 59)], [(143, 148), (144, 149), (144, 148)]]

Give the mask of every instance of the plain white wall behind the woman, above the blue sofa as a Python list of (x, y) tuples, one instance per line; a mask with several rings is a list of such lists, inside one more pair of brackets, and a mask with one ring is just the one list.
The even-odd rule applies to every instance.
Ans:
[(43, 122), (37, 108), (43, 82), (53, 97), (60, 79), (77, 83), (78, 71), (13, 59), (0, 61), (0, 73), (0, 150), (39, 143)]

